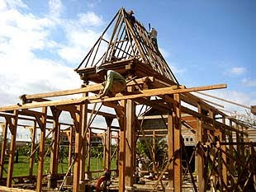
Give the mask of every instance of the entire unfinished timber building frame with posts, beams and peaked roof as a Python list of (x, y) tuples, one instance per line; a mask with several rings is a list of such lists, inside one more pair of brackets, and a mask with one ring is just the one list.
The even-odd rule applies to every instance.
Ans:
[[(109, 30), (112, 35), (109, 40), (106, 40)], [(101, 51), (102, 49), (104, 51)], [(102, 89), (101, 82), (103, 80), (95, 73), (96, 65), (103, 65), (126, 77), (126, 93), (118, 94), (115, 97), (106, 96), (103, 100), (92, 96)], [(36, 176), (36, 191), (38, 192), (42, 191), (43, 187), (46, 124), (51, 122), (52, 150), (49, 187), (57, 186), (61, 124), (59, 116), (66, 111), (73, 119), (72, 129), (74, 130), (71, 131), (69, 138), (69, 143), (71, 143), (69, 144), (69, 168), (73, 166), (73, 191), (84, 191), (87, 179), (91, 178), (90, 167), (85, 166), (85, 162), (90, 165), (90, 128), (97, 115), (103, 116), (107, 123), (105, 148), (107, 170), (110, 169), (111, 162), (110, 133), (112, 130), (116, 130), (116, 127), (111, 124), (113, 119), (118, 120), (119, 148), (116, 152), (118, 154), (116, 159), (119, 170), (119, 191), (135, 190), (136, 133), (140, 132), (145, 138), (146, 133), (142, 121), (148, 117), (150, 110), (156, 110), (163, 117), (164, 129), (168, 137), (168, 163), (162, 170), (159, 170), (161, 167), (155, 164), (154, 154), (152, 154), (154, 171), (157, 176), (154, 186), (148, 191), (156, 189), (182, 191), (183, 176), (186, 173), (189, 173), (194, 191), (206, 191), (211, 184), (221, 191), (245, 191), (251, 187), (252, 182), (254, 182), (255, 188), (255, 143), (249, 143), (247, 140), (247, 124), (237, 119), (227, 119), (225, 113), (191, 93), (225, 88), (226, 85), (192, 88), (180, 86), (159, 49), (150, 40), (145, 27), (126, 13), (125, 9), (121, 8), (116, 13), (107, 29), (103, 31), (75, 71), (83, 80), (82, 88), (23, 95), (21, 96), (22, 104), (0, 107), (0, 116), (5, 119), (5, 123), (2, 125), (4, 135), (0, 166), (0, 179), (2, 180), (7, 128), (12, 133), (7, 179), (5, 180), (7, 187), (12, 186), (14, 179), (12, 177), (13, 158), (17, 126), (21, 119), (29, 119), (34, 124), (31, 151), (35, 151), (36, 125), (40, 128), (40, 158)], [(58, 99), (61, 96), (81, 93), (83, 96), (80, 97)], [(50, 98), (55, 98), (55, 100), (50, 100)], [(98, 103), (100, 106), (97, 108)], [(92, 109), (89, 109), (88, 105), (93, 105)], [(102, 105), (113, 109), (115, 114), (103, 112)], [(141, 105), (147, 107), (145, 113), (138, 115), (136, 111)], [(190, 115), (194, 123), (191, 123), (191, 119), (184, 118), (184, 114)], [(182, 139), (184, 127), (190, 129), (196, 138), (197, 144), (194, 151), (196, 180), (192, 175), (190, 161), (186, 148), (184, 148)], [(73, 132), (74, 135), (72, 135)], [(75, 138), (73, 158), (72, 137)], [(182, 171), (182, 156), (186, 157), (187, 162), (185, 173)], [(31, 154), (31, 169), (33, 169), (33, 158), (34, 156)], [(163, 176), (166, 171), (168, 171), (168, 182), (167, 185), (164, 185)], [(30, 176), (32, 176), (31, 173), (30, 171)], [(70, 176), (70, 169), (67, 174)]]

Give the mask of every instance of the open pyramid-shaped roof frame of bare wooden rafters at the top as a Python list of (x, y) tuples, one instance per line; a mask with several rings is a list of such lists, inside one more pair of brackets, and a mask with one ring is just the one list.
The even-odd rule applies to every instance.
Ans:
[(140, 60), (178, 84), (163, 55), (150, 40), (149, 31), (124, 8), (116, 13), (75, 71), (127, 59)]

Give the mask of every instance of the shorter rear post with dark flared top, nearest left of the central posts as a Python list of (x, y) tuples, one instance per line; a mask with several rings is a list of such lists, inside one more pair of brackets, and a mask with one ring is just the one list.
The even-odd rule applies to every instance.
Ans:
[(105, 117), (107, 123), (107, 135), (106, 135), (106, 169), (111, 170), (111, 124), (113, 119)]

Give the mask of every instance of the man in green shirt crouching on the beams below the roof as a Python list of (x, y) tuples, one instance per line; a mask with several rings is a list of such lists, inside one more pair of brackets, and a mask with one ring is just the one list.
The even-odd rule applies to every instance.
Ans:
[(96, 68), (96, 73), (106, 79), (106, 82), (102, 83), (104, 90), (99, 95), (100, 98), (103, 96), (116, 96), (117, 93), (126, 89), (126, 79), (125, 77), (122, 77), (120, 73), (113, 70), (107, 70), (101, 66)]

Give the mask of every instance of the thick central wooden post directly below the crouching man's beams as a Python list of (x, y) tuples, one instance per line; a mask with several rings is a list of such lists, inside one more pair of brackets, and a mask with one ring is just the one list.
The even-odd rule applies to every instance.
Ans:
[[(133, 91), (133, 87), (127, 87)], [(126, 190), (133, 190), (135, 175), (135, 101), (126, 103)]]

